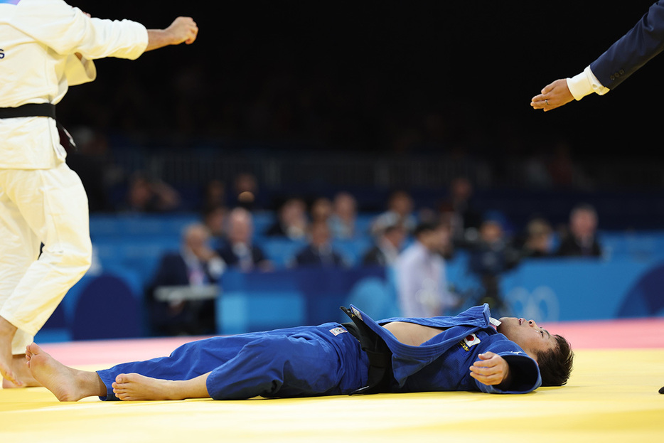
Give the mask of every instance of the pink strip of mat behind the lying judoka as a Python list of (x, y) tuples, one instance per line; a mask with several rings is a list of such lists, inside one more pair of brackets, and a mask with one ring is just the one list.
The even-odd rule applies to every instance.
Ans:
[[(664, 348), (664, 318), (574, 321), (540, 324), (574, 349)], [(168, 356), (176, 347), (203, 337), (45, 343), (43, 349), (66, 365), (109, 365)]]

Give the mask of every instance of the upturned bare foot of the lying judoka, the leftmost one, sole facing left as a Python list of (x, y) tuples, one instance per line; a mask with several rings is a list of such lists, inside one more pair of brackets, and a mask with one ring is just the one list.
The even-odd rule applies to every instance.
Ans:
[(26, 360), (35, 380), (61, 402), (75, 402), (92, 395), (106, 395), (106, 388), (103, 383), (100, 384), (97, 373), (65, 366), (35, 343), (26, 348)]

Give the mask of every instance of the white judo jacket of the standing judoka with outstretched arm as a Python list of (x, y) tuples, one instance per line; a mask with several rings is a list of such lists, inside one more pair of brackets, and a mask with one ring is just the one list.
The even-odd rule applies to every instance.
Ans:
[[(95, 80), (92, 60), (134, 60), (147, 44), (141, 23), (90, 18), (62, 0), (0, 0), (0, 107), (55, 105)], [(53, 119), (0, 119), (0, 169), (49, 169), (65, 156)]]

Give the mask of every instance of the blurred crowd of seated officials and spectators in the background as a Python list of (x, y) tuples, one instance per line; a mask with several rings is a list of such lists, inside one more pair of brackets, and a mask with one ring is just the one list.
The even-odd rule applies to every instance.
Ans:
[[(151, 193), (137, 181), (129, 191), (132, 210), (158, 210), (177, 201), (172, 188), (159, 183)], [(396, 190), (380, 213), (371, 216), (368, 228), (358, 227), (360, 210), (352, 193), (339, 191), (331, 197), (287, 196), (274, 211), (274, 223), (256, 231), (257, 183), (241, 174), (227, 188), (210, 181), (200, 207), (200, 221), (183, 232), (181, 250), (161, 258), (146, 289), (153, 326), (159, 334), (200, 334), (214, 331), (211, 300), (159, 301), (154, 294), (164, 286), (220, 284), (226, 269), (240, 272), (271, 272), (274, 260), (262, 242), (282, 239), (300, 245), (287, 267), (338, 268), (351, 266), (391, 267), (395, 271), (397, 297), (404, 316), (434, 316), (454, 310), (468, 294), (455, 292), (446, 279), (446, 263), (464, 255), (468, 272), (480, 289), (475, 302), (489, 303), (500, 313), (503, 300), (500, 277), (523, 260), (545, 257), (601, 257), (596, 237), (597, 213), (579, 203), (569, 223), (554, 226), (533, 214), (523, 228), (513, 230), (504, 214), (483, 212), (473, 204), (473, 184), (456, 178), (449, 195), (435, 207), (417, 207), (406, 190)], [(370, 247), (351, 265), (336, 250), (336, 240), (370, 238)]]

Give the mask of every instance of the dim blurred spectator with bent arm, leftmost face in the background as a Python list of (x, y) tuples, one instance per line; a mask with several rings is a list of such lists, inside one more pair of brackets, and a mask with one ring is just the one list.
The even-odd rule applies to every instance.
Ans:
[(164, 213), (180, 206), (180, 194), (161, 180), (137, 172), (129, 180), (127, 212)]

